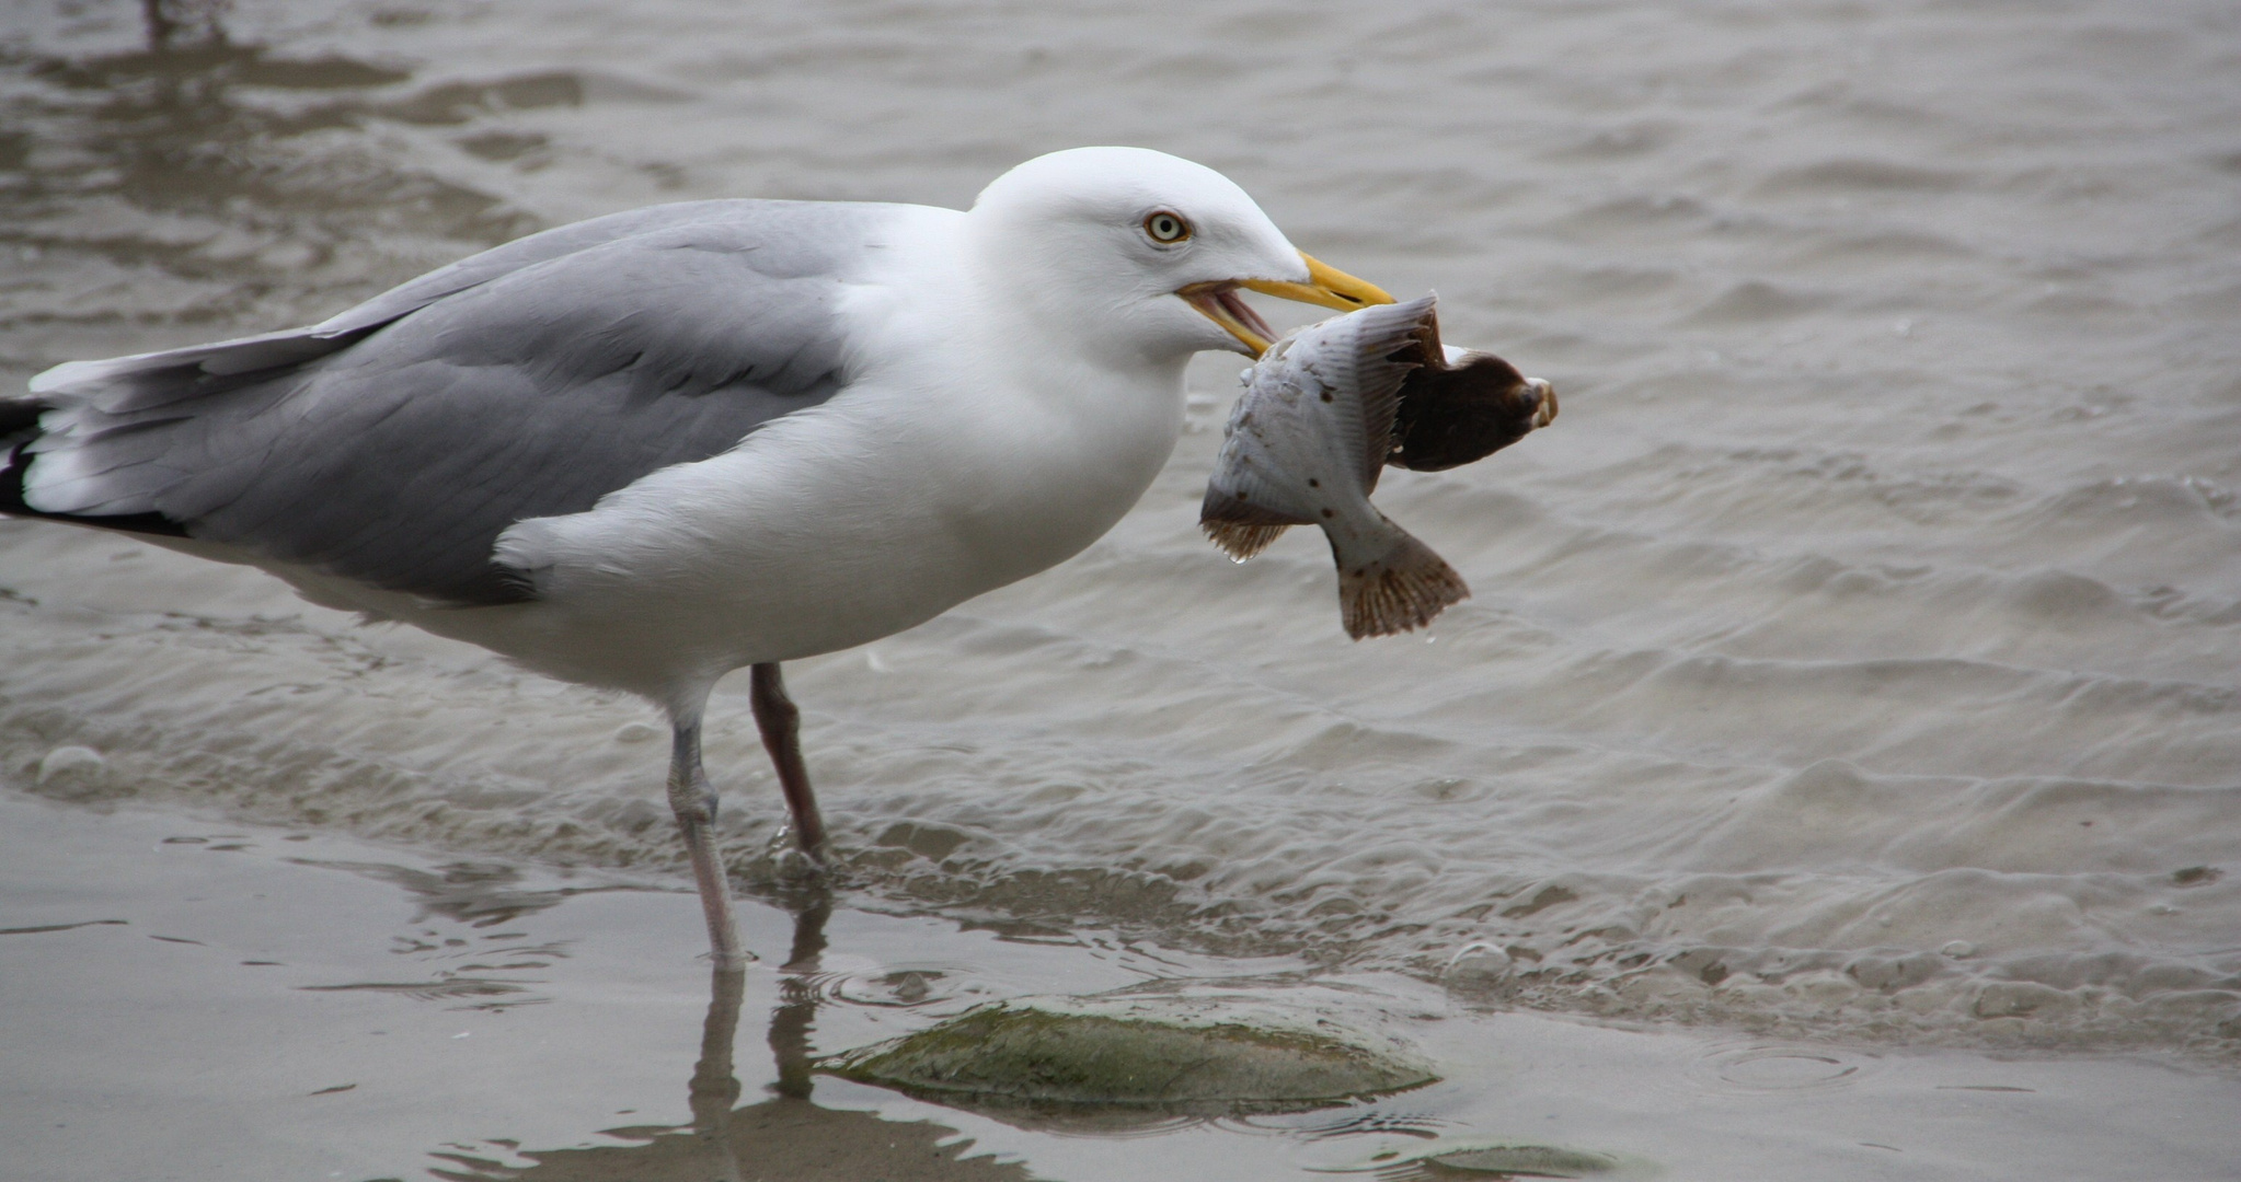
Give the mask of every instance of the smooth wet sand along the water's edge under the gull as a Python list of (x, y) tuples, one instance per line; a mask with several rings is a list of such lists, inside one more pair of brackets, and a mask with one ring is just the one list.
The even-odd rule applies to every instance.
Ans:
[[(1212, 1182), (1526, 1144), (1607, 1178), (2044, 1182), (2230, 1178), (2237, 1148), (2241, 1079), (2167, 1057), (1593, 1025), (1392, 974), (791, 902), (746, 907), (762, 958), (710, 996), (679, 880), (4, 795), (9, 1178)], [(977, 1001), (1147, 981), (1342, 996), (1445, 1079), (1313, 1113), (1053, 1124), (809, 1072)]]

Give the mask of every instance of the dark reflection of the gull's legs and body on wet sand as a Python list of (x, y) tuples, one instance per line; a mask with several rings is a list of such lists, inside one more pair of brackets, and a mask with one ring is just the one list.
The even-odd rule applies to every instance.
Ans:
[(809, 891), (793, 918), (793, 951), (780, 1003), (771, 1012), (778, 1084), (771, 1099), (733, 1108), (740, 1079), (731, 1048), (746, 989), (742, 969), (715, 969), (701, 1057), (692, 1068), (692, 1124), (684, 1128), (612, 1131), (636, 1144), (522, 1151), (527, 1169), (464, 1153), (437, 1153), (428, 1173), (448, 1182), (1026, 1182), (1026, 1166), (964, 1157), (970, 1142), (932, 1122), (885, 1122), (872, 1113), (818, 1108), (809, 1099), (809, 1032), (820, 992), (818, 956), (831, 895)]

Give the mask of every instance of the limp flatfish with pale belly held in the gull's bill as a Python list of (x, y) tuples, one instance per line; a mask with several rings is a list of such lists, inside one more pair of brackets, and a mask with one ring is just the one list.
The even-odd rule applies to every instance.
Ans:
[(1286, 526), (1322, 526), (1356, 640), (1423, 627), (1470, 595), (1369, 504), (1378, 472), (1470, 463), (1555, 419), (1549, 383), (1443, 347), (1430, 296), (1309, 325), (1271, 345), (1244, 383), (1199, 524), (1239, 562)]

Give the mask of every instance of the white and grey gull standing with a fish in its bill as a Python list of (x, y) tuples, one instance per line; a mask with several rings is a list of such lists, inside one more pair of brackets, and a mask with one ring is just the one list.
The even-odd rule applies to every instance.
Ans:
[(780, 665), (1080, 553), (1168, 461), (1250, 289), (1392, 298), (1228, 177), (1076, 148), (968, 210), (713, 199), (558, 226), (303, 329), (74, 360), (0, 396), (0, 513), (260, 566), (303, 598), (623, 690), (717, 969), (746, 963), (701, 770), (751, 669), (789, 831), (825, 822)]

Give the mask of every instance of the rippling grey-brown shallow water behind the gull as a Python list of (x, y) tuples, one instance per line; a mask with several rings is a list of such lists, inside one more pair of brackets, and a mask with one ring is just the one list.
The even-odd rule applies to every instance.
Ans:
[[(1477, 598), (1351, 645), (1318, 540), (1199, 537), (1235, 360), (1194, 369), (1105, 542), (789, 667), (852, 898), (1419, 981), (1490, 945), (1488, 1005), (2230, 1063), (2237, 67), (2207, 0), (238, 0), (161, 45), (40, 2), (0, 27), (0, 376), (648, 201), (964, 204), (1049, 148), (1168, 148), (1436, 289), (1564, 416), (1387, 477)], [(69, 528), (0, 524), (0, 589), (22, 790), (679, 862), (636, 703)], [(708, 757), (753, 880), (744, 694)]]

